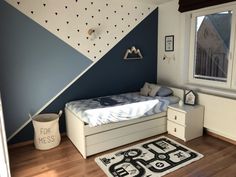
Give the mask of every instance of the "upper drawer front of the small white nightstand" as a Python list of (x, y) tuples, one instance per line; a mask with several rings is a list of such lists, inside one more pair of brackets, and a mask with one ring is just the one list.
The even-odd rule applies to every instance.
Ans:
[(171, 121), (176, 122), (178, 124), (185, 125), (185, 117), (186, 117), (186, 114), (183, 112), (178, 112), (178, 111), (170, 109), (170, 108), (167, 111), (168, 120), (171, 120)]

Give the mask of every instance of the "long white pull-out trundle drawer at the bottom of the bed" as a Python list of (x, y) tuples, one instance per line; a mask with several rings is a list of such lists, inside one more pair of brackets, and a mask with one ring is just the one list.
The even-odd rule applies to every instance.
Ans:
[(86, 136), (87, 155), (166, 132), (166, 117)]

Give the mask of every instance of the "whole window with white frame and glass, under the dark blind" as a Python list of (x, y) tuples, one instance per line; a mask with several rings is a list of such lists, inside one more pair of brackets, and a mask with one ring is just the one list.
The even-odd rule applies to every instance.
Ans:
[(223, 88), (232, 87), (236, 30), (234, 6), (236, 7), (233, 5), (228, 8), (198, 11), (192, 14), (190, 83)]

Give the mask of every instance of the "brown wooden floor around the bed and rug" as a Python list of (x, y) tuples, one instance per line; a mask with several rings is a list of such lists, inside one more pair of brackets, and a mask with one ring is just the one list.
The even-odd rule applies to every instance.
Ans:
[[(209, 135), (187, 143), (170, 135), (168, 137), (202, 153), (205, 157), (169, 173), (166, 177), (236, 177), (235, 145)], [(104, 153), (84, 160), (67, 137), (62, 138), (60, 146), (48, 151), (38, 151), (33, 145), (26, 145), (10, 148), (9, 154), (12, 177), (106, 177), (94, 162), (96, 156)]]

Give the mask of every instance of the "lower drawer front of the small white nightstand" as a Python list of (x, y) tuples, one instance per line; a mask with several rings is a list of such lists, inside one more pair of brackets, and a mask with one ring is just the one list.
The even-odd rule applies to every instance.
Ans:
[(169, 134), (174, 135), (182, 140), (185, 140), (185, 127), (184, 126), (178, 125), (168, 120), (167, 131)]

